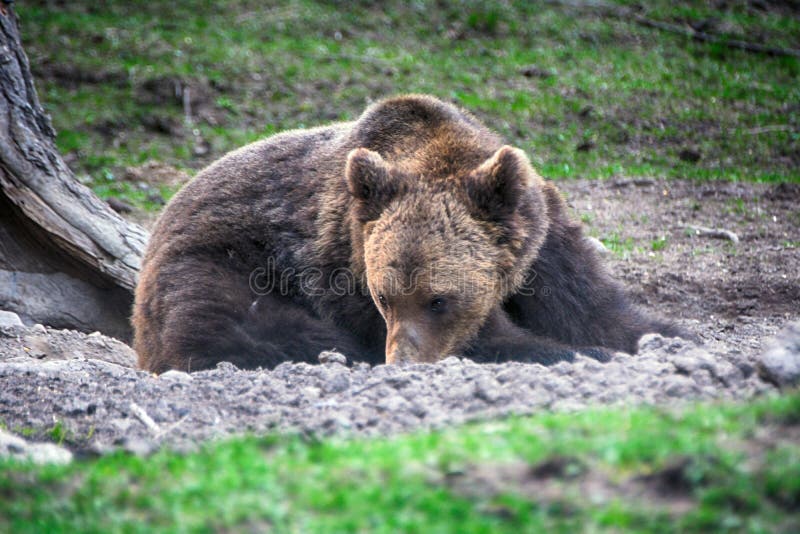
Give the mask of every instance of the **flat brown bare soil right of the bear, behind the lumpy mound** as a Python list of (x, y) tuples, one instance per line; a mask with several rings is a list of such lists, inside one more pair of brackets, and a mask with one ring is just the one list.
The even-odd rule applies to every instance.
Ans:
[[(703, 341), (757, 351), (762, 337), (800, 315), (800, 184), (559, 185), (590, 235), (630, 240), (609, 261), (642, 304)], [(739, 243), (690, 226), (734, 232)]]

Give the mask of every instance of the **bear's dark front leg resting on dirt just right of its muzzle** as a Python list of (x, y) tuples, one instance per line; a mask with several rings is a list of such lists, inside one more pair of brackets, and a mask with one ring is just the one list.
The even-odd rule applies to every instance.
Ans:
[(611, 354), (599, 347), (571, 347), (534, 335), (515, 325), (505, 311), (496, 308), (464, 355), (480, 363), (518, 361), (552, 365), (573, 361), (577, 353), (601, 362), (611, 359)]

